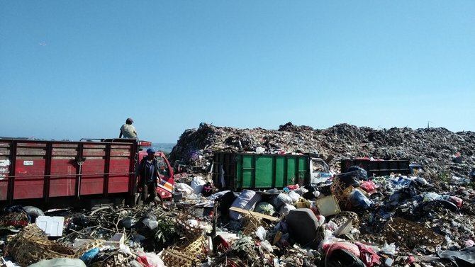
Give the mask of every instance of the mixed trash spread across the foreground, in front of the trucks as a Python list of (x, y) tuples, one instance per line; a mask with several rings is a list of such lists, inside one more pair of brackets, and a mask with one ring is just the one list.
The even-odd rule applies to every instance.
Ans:
[[(0, 216), (0, 266), (474, 266), (475, 184), (368, 177)], [(38, 212), (37, 212), (38, 213)], [(60, 234), (39, 222), (60, 218)], [(40, 218), (40, 219), (39, 219)]]

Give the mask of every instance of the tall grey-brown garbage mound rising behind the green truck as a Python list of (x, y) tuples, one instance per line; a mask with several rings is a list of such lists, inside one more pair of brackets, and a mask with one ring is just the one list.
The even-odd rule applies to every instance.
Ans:
[(206, 169), (213, 152), (315, 152), (333, 157), (330, 166), (339, 171), (340, 159), (373, 157), (376, 159), (411, 159), (423, 164), (427, 174), (465, 177), (475, 166), (475, 132), (451, 132), (445, 128), (412, 130), (408, 127), (374, 130), (340, 124), (318, 130), (292, 123), (279, 130), (238, 129), (201, 123), (198, 129), (186, 130), (170, 157), (196, 169)]

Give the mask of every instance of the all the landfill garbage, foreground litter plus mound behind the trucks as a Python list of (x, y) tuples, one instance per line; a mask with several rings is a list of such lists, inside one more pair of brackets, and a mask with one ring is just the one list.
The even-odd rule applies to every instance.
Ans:
[[(347, 157), (410, 158), (425, 171), (374, 177), (357, 169), (314, 185), (203, 191), (213, 152), (257, 148), (317, 152), (335, 172)], [(189, 173), (175, 181), (180, 198), (41, 211), (62, 222), (57, 237), (25, 207), (6, 208), (0, 266), (475, 266), (474, 149), (474, 132), (443, 128), (203, 123), (171, 155)]]

